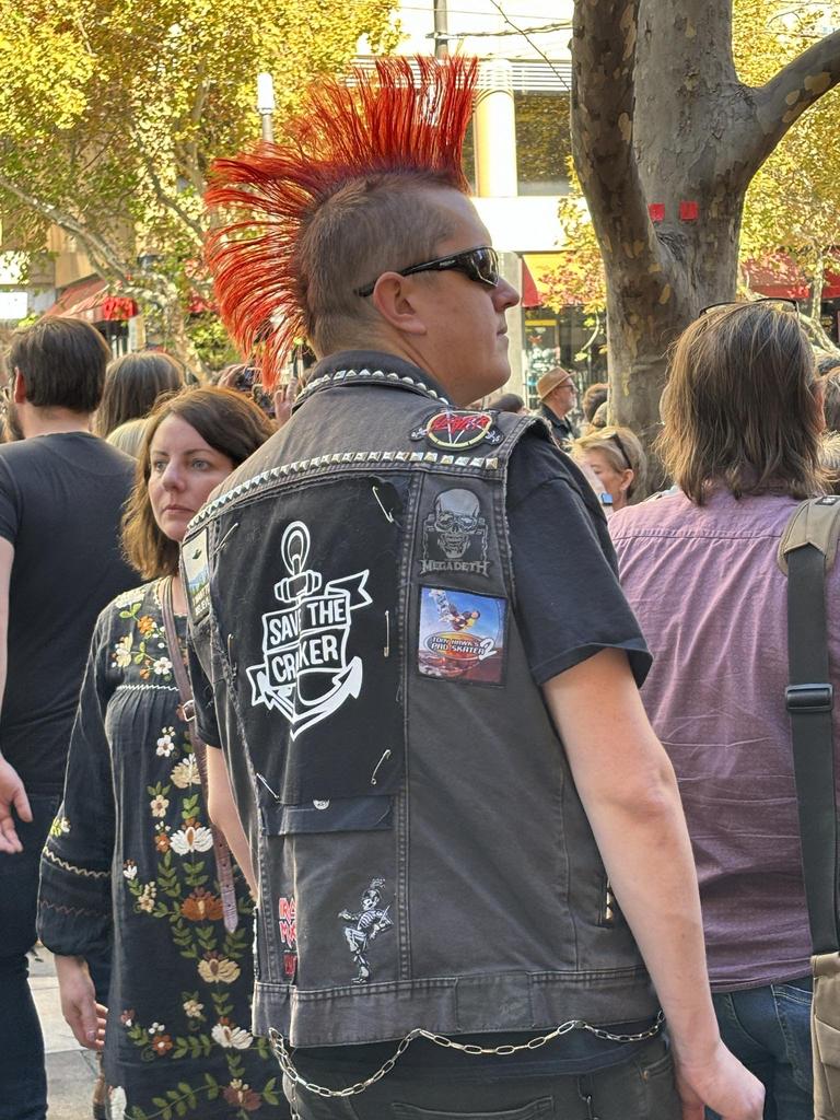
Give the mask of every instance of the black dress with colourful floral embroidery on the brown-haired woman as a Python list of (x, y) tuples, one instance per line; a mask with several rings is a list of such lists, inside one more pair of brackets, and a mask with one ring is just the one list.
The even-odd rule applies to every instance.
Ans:
[(112, 1120), (274, 1120), (288, 1116), (278, 1066), (249, 1029), (252, 905), (236, 869), (227, 933), (158, 596), (149, 584), (100, 616), (41, 858), (39, 932), (53, 952), (85, 956), (113, 931)]

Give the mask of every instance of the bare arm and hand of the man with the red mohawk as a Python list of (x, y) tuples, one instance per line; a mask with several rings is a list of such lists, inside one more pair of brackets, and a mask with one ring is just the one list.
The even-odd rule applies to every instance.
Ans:
[(720, 1040), (676, 780), (626, 654), (603, 650), (552, 678), (543, 692), (668, 1018), (684, 1120), (702, 1120), (703, 1104), (725, 1120), (760, 1120), (760, 1084)]

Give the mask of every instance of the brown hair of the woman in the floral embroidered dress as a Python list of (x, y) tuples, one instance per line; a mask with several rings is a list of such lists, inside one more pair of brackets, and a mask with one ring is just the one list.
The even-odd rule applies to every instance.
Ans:
[(232, 459), (234, 467), (253, 455), (276, 430), (250, 398), (231, 389), (184, 389), (158, 402), (147, 422), (134, 487), (122, 519), (123, 552), (143, 579), (174, 576), (178, 571), (178, 543), (161, 532), (149, 501), (151, 442), (168, 417), (178, 417), (195, 428), (214, 450)]

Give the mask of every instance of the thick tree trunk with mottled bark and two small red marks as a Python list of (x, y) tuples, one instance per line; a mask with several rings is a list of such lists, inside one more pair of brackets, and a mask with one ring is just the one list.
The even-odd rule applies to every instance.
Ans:
[[(766, 86), (744, 86), (731, 0), (576, 0), (572, 147), (607, 279), (613, 416), (659, 428), (668, 349), (735, 299), (749, 181), (840, 81), (840, 34)], [(650, 207), (650, 212), (648, 212)]]

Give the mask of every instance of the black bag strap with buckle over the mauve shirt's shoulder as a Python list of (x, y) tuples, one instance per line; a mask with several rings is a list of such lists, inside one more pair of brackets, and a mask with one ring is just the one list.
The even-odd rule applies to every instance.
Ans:
[(787, 571), (785, 700), (791, 715), (793, 767), (802, 837), (805, 898), (815, 953), (840, 948), (837, 922), (837, 804), (831, 722), (825, 571), (840, 534), (840, 497), (809, 498), (796, 507), (778, 548)]

